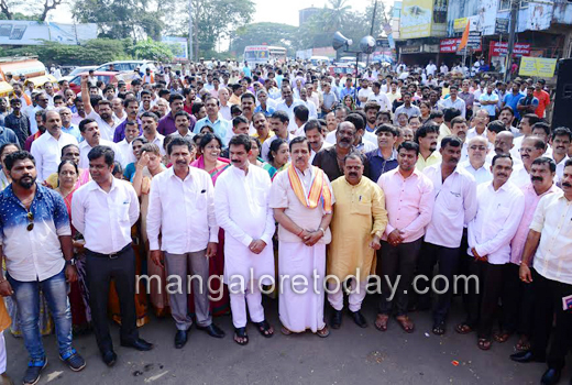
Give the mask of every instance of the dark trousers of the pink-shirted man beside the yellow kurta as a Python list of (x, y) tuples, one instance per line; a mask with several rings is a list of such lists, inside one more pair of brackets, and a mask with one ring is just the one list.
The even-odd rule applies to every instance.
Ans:
[[(382, 297), (380, 298), (378, 312), (381, 315), (391, 315), (395, 310), (396, 316), (407, 314), (409, 304), (408, 290), (410, 290), (411, 280), (417, 265), (417, 257), (421, 249), (422, 238), (409, 243), (402, 243), (392, 246), (389, 243), (382, 241), (382, 249), (378, 252), (382, 278)], [(395, 296), (392, 297), (392, 289), (399, 276), (399, 283)], [(395, 309), (394, 309), (395, 307)]]

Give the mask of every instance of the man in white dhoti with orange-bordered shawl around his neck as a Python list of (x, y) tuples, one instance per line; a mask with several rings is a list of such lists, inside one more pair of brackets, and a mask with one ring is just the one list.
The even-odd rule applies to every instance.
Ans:
[(278, 312), (282, 332), (330, 331), (323, 321), (326, 244), (334, 202), (330, 180), (311, 166), (310, 144), (304, 136), (290, 142), (292, 165), (272, 185), (270, 207), (278, 222)]

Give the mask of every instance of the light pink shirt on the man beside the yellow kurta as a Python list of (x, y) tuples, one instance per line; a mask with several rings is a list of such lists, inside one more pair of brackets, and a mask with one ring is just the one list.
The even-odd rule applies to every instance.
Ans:
[(395, 229), (404, 232), (404, 243), (417, 241), (425, 234), (435, 205), (432, 182), (417, 168), (404, 179), (399, 167), (383, 174), (377, 184), (385, 194), (385, 207), (389, 222), (383, 240)]

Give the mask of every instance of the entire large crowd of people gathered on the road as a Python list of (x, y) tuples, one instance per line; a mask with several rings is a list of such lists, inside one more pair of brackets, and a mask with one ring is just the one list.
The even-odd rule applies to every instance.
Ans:
[[(23, 384), (54, 329), (70, 370), (86, 366), (73, 336), (91, 331), (113, 365), (109, 318), (140, 351), (151, 312), (173, 317), (177, 349), (193, 323), (223, 338), (226, 314), (238, 344), (249, 317), (270, 338), (263, 294), (285, 336), (328, 337), (344, 295), (367, 327), (367, 294), (377, 330), (414, 332), (425, 310), (442, 336), (461, 276), (453, 330), (481, 350), (517, 334), (510, 359), (547, 362), (556, 384), (572, 344), (572, 131), (549, 124), (542, 79), (427, 67), (372, 65), (354, 84), (294, 63), (165, 65), (130, 84), (85, 75), (77, 95), (14, 80), (0, 99), (0, 329), (23, 338)], [(6, 362), (0, 334), (8, 383)]]

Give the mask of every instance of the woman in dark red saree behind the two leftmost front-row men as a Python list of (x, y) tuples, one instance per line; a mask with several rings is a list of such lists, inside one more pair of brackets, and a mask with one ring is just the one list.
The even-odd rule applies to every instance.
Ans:
[[(79, 168), (73, 161), (65, 160), (57, 167), (57, 188), (66, 204), (69, 223), (72, 223), (72, 199), (74, 193), (81, 186), (79, 180)], [(84, 253), (84, 237), (72, 227), (72, 239), (74, 242), (74, 257), (76, 260), (77, 280), (69, 285), (69, 307), (72, 310), (72, 327), (74, 333), (81, 333), (90, 329), (91, 310), (89, 308), (89, 292), (86, 283), (86, 261)]]

